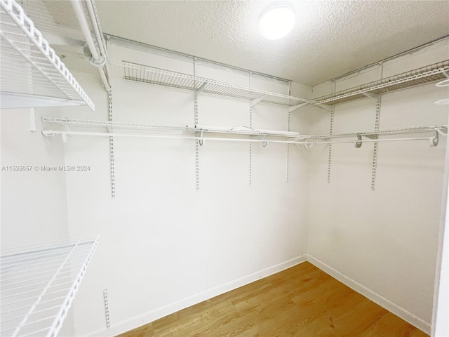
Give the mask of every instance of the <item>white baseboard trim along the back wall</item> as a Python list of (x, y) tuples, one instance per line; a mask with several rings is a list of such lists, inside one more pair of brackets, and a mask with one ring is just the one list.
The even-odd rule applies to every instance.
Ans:
[(281, 272), (282, 270), (286, 270), (294, 265), (299, 265), (304, 262), (305, 256), (297, 256), (296, 258), (292, 258), (291, 260), (287, 260), (283, 263), (279, 263), (278, 265), (273, 265), (272, 267), (265, 268), (264, 270), (260, 270), (258, 272), (254, 272), (253, 274), (247, 275), (245, 277), (241, 277), (240, 279), (236, 279), (227, 284), (222, 284), (221, 286), (217, 286), (213, 289), (208, 289), (203, 291), (202, 293), (198, 293), (194, 296), (190, 296), (189, 298), (184, 298), (183, 300), (179, 300), (175, 303), (170, 303), (161, 308), (157, 308), (155, 310), (145, 312), (142, 315), (137, 317), (133, 317), (131, 319), (127, 319), (126, 321), (119, 322), (117, 324), (112, 324), (109, 329), (99, 329), (88, 333), (86, 336), (116, 336), (120, 333), (133, 330), (147, 324), (148, 322), (153, 322), (156, 319), (165, 317), (167, 315), (173, 314), (173, 312), (177, 312), (179, 310), (188, 308), (197, 303), (203, 302), (203, 300), (208, 300), (209, 298), (213, 298), (215, 296), (221, 295), (222, 293), (226, 293), (227, 291), (231, 291), (237, 289), (241, 286), (245, 286), (251, 282), (255, 282), (258, 279), (262, 279), (269, 275), (276, 274), (276, 272)]

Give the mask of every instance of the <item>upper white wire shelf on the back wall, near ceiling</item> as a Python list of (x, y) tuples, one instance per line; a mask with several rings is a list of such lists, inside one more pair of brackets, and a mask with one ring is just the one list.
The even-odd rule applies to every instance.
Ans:
[(139, 65), (133, 62), (112, 62), (112, 65), (115, 70), (119, 70), (120, 76), (122, 76), (123, 79), (129, 81), (198, 91), (210, 95), (222, 95), (243, 100), (257, 100), (264, 96), (263, 99), (260, 100), (260, 102), (263, 103), (289, 106), (297, 105), (299, 103), (315, 103), (306, 98), (283, 95), (281, 93), (273, 93), (245, 86), (237, 86), (235, 84), (215, 81), (213, 79), (205, 79), (189, 74), (182, 74), (180, 72), (171, 72), (159, 68), (148, 67), (146, 65)]

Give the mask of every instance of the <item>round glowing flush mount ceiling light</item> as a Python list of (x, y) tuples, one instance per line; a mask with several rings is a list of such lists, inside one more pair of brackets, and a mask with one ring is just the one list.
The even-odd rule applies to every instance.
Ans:
[(276, 1), (264, 9), (259, 19), (262, 37), (277, 40), (291, 32), (295, 25), (295, 8), (287, 1)]

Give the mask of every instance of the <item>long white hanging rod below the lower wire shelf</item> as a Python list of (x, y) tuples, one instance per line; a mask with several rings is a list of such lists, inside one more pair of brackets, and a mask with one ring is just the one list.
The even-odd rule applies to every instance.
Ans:
[(427, 140), (431, 144), (435, 137), (411, 137), (411, 138), (387, 138), (387, 139), (356, 139), (356, 140), (337, 140), (332, 141), (307, 141), (307, 140), (269, 140), (269, 139), (250, 139), (250, 138), (213, 138), (213, 137), (198, 137), (198, 136), (165, 136), (165, 135), (147, 135), (138, 133), (109, 133), (109, 132), (86, 132), (86, 131), (57, 131), (57, 130), (43, 130), (43, 136), (95, 136), (95, 137), (128, 137), (128, 138), (161, 138), (161, 139), (190, 139), (200, 141), (222, 141), (222, 142), (241, 142), (241, 143), (262, 143), (266, 146), (268, 143), (280, 144), (299, 144), (299, 145), (328, 145), (328, 144), (344, 144), (344, 143), (377, 143), (377, 142), (398, 142), (407, 140)]

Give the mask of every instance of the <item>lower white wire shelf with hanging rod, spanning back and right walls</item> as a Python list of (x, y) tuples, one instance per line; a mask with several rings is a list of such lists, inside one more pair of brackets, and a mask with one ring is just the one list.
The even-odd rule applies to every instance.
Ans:
[[(361, 133), (340, 133), (335, 135), (303, 135), (295, 131), (273, 131), (257, 130), (246, 126), (236, 128), (220, 128), (217, 126), (156, 126), (149, 124), (135, 124), (123, 122), (93, 121), (86, 119), (48, 118), (43, 117), (42, 121), (48, 124), (60, 124), (75, 126), (76, 128), (104, 128), (105, 131), (60, 131), (46, 129), (42, 131), (43, 136), (104, 136), (104, 137), (130, 137), (130, 138), (167, 138), (167, 139), (190, 139), (190, 140), (212, 140), (228, 142), (256, 142), (256, 143), (284, 143), (284, 144), (338, 144), (338, 143), (375, 143), (375, 142), (396, 142), (406, 140), (429, 140), (432, 146), (438, 145), (438, 136), (447, 136), (448, 126), (419, 126), (414, 128), (401, 128), (384, 131), (372, 131)], [(133, 131), (142, 131), (135, 133)], [(153, 134), (153, 132), (159, 134)], [(163, 134), (161, 134), (163, 133)], [(177, 134), (175, 134), (177, 133)], [(190, 135), (185, 133), (190, 133)], [(193, 136), (192, 136), (193, 133)], [(207, 136), (207, 134), (225, 133), (234, 135), (234, 138), (219, 138)], [(410, 137), (398, 138), (396, 136), (413, 135)], [(418, 135), (418, 136), (416, 136)], [(249, 136), (241, 138), (241, 136)], [(259, 137), (254, 137), (259, 136)], [(382, 138), (389, 136), (390, 138)], [(240, 137), (240, 138), (237, 138)], [(280, 139), (281, 138), (281, 139)], [(342, 138), (352, 138), (339, 140)], [(201, 143), (202, 145), (202, 143)], [(358, 146), (360, 147), (360, 146)]]

